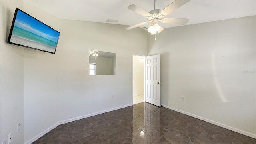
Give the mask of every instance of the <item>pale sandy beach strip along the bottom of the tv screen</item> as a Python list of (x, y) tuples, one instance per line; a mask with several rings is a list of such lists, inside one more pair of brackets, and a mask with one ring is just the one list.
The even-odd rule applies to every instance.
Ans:
[(40, 50), (45, 50), (45, 51), (48, 51), (48, 52), (55, 52), (55, 49), (53, 48), (48, 48), (40, 43), (37, 43), (37, 42), (33, 42), (33, 41), (30, 41), (30, 40), (26, 40), (26, 39), (23, 39), (23, 38), (20, 38), (18, 36), (14, 36), (12, 35), (12, 38), (10, 39), (10, 42), (12, 43), (15, 43), (15, 44), (21, 44), (21, 45), (24, 45), (24, 46), (29, 46), (29, 47), (32, 47), (32, 48), (37, 48), (37, 49), (40, 49)]

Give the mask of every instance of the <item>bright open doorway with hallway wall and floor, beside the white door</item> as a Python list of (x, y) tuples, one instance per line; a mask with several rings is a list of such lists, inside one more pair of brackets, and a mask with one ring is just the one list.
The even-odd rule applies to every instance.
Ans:
[(132, 55), (132, 98), (133, 104), (145, 102), (144, 95), (145, 56)]

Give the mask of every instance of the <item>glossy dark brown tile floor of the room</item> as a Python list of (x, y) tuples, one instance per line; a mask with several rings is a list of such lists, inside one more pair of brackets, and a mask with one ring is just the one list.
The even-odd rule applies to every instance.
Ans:
[(62, 124), (33, 144), (256, 144), (256, 139), (143, 102)]

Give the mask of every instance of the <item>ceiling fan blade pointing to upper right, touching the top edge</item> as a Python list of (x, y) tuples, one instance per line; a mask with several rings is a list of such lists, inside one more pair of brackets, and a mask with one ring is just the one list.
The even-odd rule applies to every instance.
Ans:
[(167, 15), (170, 14), (171, 12), (173, 12), (174, 10), (178, 9), (179, 7), (183, 6), (184, 4), (186, 4), (187, 2), (189, 2), (190, 0), (175, 0), (174, 2), (172, 2), (169, 6), (167, 6), (166, 8), (164, 8), (161, 11), (161, 14), (163, 15)]

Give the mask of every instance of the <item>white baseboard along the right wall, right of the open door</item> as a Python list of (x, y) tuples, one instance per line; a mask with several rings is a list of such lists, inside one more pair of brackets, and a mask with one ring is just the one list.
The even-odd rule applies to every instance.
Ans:
[(198, 118), (199, 120), (203, 120), (203, 121), (205, 121), (205, 122), (209, 122), (209, 123), (211, 123), (211, 124), (215, 124), (215, 125), (220, 126), (220, 127), (222, 127), (222, 128), (226, 128), (226, 129), (228, 129), (228, 130), (232, 130), (232, 131), (234, 131), (234, 132), (237, 132), (237, 133), (240, 133), (240, 134), (249, 136), (249, 137), (251, 137), (251, 138), (256, 138), (256, 134), (252, 134), (252, 133), (249, 133), (249, 132), (245, 132), (245, 131), (243, 131), (243, 130), (239, 130), (239, 129), (237, 129), (237, 128), (233, 128), (233, 127), (231, 127), (231, 126), (227, 126), (227, 125), (225, 125), (225, 124), (221, 124), (221, 123), (215, 122), (215, 121), (213, 121), (213, 120), (209, 120), (209, 119), (207, 119), (207, 118), (203, 118), (203, 117), (200, 117), (200, 116), (196, 116), (196, 115), (194, 115), (194, 114), (190, 114), (190, 113), (188, 113), (188, 112), (184, 112), (184, 111), (182, 111), (182, 110), (177, 110), (177, 109), (175, 109), (175, 108), (166, 106), (166, 105), (164, 105), (164, 104), (161, 104), (161, 106), (163, 106), (163, 107), (165, 107), (165, 108), (168, 108), (168, 109), (171, 109), (171, 110), (174, 110), (174, 111), (176, 111), (176, 112), (180, 112), (180, 113), (182, 113), (182, 114), (186, 114), (186, 115), (188, 115), (188, 116), (192, 116), (192, 117), (194, 117), (194, 118)]

